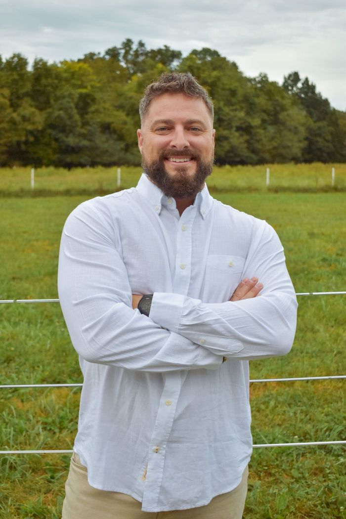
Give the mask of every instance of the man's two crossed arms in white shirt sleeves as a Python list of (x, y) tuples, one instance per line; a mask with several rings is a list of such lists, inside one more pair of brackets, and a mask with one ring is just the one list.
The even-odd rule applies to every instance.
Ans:
[(147, 318), (133, 309), (112, 235), (90, 214), (81, 208), (68, 218), (58, 276), (68, 331), (83, 359), (146, 372), (216, 369), (224, 356), (269, 357), (292, 346), (297, 305), (281, 243), (269, 226), (257, 233), (244, 271), (263, 283), (260, 297), (246, 285), (232, 301), (213, 304), (155, 292)]

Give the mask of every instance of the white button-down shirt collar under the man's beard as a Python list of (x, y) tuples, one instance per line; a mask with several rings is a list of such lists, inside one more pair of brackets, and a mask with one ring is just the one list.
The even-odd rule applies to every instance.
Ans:
[[(174, 198), (172, 199), (165, 196), (161, 189), (148, 179), (145, 173), (142, 173), (136, 189), (149, 202), (150, 206), (157, 214), (160, 214), (162, 205), (169, 209), (176, 207)], [(206, 215), (209, 213), (213, 205), (213, 198), (209, 194), (206, 184), (204, 184), (203, 189), (197, 193), (193, 205), (197, 207), (203, 220), (205, 220)]]

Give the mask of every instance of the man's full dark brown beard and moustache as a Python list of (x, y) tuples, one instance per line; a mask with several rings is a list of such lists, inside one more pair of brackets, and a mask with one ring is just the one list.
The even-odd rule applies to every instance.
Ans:
[[(181, 168), (176, 168), (175, 173), (169, 173), (165, 168), (164, 159), (167, 157), (191, 157), (196, 160), (196, 172), (187, 173), (187, 167), (182, 162)], [(213, 170), (214, 154), (209, 161), (201, 159), (200, 155), (192, 153), (190, 150), (162, 150), (157, 160), (147, 162), (144, 154), (142, 156), (142, 168), (155, 185), (159, 187), (167, 197), (172, 198), (192, 198), (204, 186), (207, 176)]]

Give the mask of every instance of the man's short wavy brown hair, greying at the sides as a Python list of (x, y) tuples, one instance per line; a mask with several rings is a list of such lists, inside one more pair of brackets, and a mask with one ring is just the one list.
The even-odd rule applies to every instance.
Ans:
[(144, 117), (148, 113), (151, 101), (165, 93), (185, 93), (192, 98), (202, 99), (213, 120), (214, 106), (212, 98), (190, 72), (164, 72), (144, 90), (144, 95), (140, 101), (141, 122), (143, 122)]

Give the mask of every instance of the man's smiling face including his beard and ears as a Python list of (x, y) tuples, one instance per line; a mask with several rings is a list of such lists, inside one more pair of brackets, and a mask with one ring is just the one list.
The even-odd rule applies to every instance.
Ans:
[(151, 101), (137, 136), (150, 180), (167, 196), (195, 197), (214, 161), (215, 130), (204, 101), (184, 93), (160, 95)]

